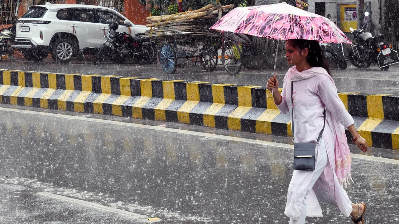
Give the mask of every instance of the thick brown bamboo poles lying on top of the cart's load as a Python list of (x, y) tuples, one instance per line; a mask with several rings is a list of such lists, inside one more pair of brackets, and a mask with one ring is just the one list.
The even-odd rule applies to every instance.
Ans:
[(234, 8), (234, 5), (227, 6), (216, 6), (214, 3), (209, 4), (203, 8), (193, 11), (180, 12), (172, 15), (164, 16), (149, 16), (147, 17), (146, 27), (159, 28), (164, 26), (173, 26), (174, 23), (180, 23), (185, 20), (196, 20), (196, 19), (211, 19), (212, 15), (221, 14)]

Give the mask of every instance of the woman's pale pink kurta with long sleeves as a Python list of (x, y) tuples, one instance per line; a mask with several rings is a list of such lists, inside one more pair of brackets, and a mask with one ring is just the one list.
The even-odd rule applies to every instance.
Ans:
[[(298, 72), (296, 69), (294, 71)], [(327, 198), (334, 198), (335, 204), (340, 211), (345, 216), (349, 216), (352, 208), (350, 208), (349, 211), (348, 203), (350, 204), (351, 202), (336, 176), (334, 155), (335, 141), (331, 128), (332, 122), (328, 118), (332, 116), (332, 118), (340, 122), (340, 124), (346, 128), (354, 124), (354, 120), (346, 111), (344, 104), (338, 97), (338, 93), (331, 79), (325, 75), (325, 69), (314, 67), (304, 72), (315, 74), (308, 79), (294, 81), (293, 83), (294, 89), (292, 98), (294, 105), (295, 142), (316, 142), (323, 128), (323, 111), (324, 108), (326, 108), (326, 128), (322, 135), (325, 145), (323, 145), (322, 148), (327, 150), (328, 164), (320, 178), (324, 179), (321, 182), (326, 183), (325, 187), (329, 188), (322, 189), (321, 191), (323, 192), (321, 193), (314, 192), (318, 191), (320, 186), (317, 188), (313, 187), (312, 193), (306, 197), (308, 207), (307, 216), (322, 216), (322, 211), (318, 199), (316, 198), (316, 195), (320, 194), (327, 194)], [(277, 107), (282, 113), (291, 114), (291, 80), (286, 77), (284, 77), (284, 87), (281, 92), (282, 102)], [(318, 147), (320, 147), (320, 145)], [(305, 173), (306, 175), (303, 177), (301, 176), (302, 179), (291, 180), (291, 182), (297, 181), (304, 183), (303, 185), (298, 185), (295, 192), (288, 192), (285, 214), (292, 219), (298, 219), (303, 199), (306, 196), (306, 189), (308, 189), (308, 185), (306, 185), (306, 183), (308, 183), (307, 180), (313, 177), (312, 172)], [(334, 204), (334, 202), (332, 202), (332, 204)]]

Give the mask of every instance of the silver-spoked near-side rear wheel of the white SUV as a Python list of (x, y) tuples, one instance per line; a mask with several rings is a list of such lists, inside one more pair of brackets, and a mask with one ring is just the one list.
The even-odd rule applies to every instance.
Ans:
[(51, 57), (58, 63), (68, 63), (76, 51), (75, 41), (69, 38), (59, 38), (52, 44)]

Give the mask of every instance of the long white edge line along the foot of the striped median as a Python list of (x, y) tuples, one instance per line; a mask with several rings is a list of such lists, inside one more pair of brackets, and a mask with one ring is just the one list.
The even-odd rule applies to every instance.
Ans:
[[(179, 134), (189, 134), (189, 135), (194, 135), (194, 136), (218, 138), (218, 139), (229, 140), (229, 141), (241, 141), (241, 142), (254, 143), (254, 144), (259, 144), (259, 145), (281, 147), (281, 148), (285, 148), (285, 149), (294, 149), (294, 145), (290, 145), (290, 144), (276, 143), (276, 142), (262, 141), (262, 140), (253, 140), (253, 139), (239, 138), (239, 137), (233, 137), (233, 136), (223, 136), (223, 135), (217, 135), (217, 134), (195, 132), (195, 131), (189, 131), (189, 130), (180, 130), (180, 129), (174, 129), (174, 128), (164, 128), (164, 127), (150, 126), (150, 125), (145, 125), (145, 124), (125, 123), (125, 122), (119, 122), (119, 121), (113, 121), (113, 120), (102, 120), (102, 119), (97, 119), (97, 118), (87, 118), (87, 117), (71, 116), (71, 115), (64, 115), (64, 114), (52, 114), (52, 113), (45, 113), (45, 112), (38, 112), (38, 111), (31, 111), (31, 110), (20, 110), (20, 109), (13, 109), (13, 108), (3, 108), (3, 107), (0, 107), (0, 110), (8, 111), (8, 112), (18, 112), (18, 113), (23, 113), (23, 114), (35, 114), (35, 115), (43, 115), (43, 116), (50, 116), (50, 117), (66, 118), (67, 120), (83, 120), (83, 121), (92, 121), (92, 122), (98, 122), (98, 123), (104, 123), (104, 124), (116, 124), (116, 125), (129, 126), (129, 127), (135, 127), (135, 128), (146, 128), (146, 129), (150, 129), (150, 130), (160, 130), (160, 131), (174, 132), (174, 133), (179, 133)], [(378, 161), (378, 162), (383, 162), (383, 163), (391, 163), (391, 164), (399, 165), (399, 160), (388, 159), (388, 158), (383, 158), (383, 157), (375, 157), (375, 156), (352, 153), (352, 158), (365, 159), (365, 160), (370, 160), (370, 161)]]

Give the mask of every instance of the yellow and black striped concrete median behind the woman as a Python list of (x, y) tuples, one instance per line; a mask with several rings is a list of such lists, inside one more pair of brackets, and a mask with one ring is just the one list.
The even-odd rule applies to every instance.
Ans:
[[(261, 86), (0, 70), (4, 104), (291, 136), (289, 115), (267, 92)], [(399, 97), (339, 95), (369, 145), (399, 149)]]

